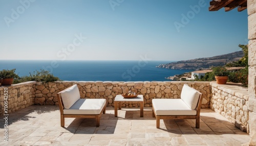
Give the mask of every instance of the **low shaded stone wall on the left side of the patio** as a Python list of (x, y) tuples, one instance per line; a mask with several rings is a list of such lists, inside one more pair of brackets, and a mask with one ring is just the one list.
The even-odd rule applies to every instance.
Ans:
[[(12, 86), (0, 87), (0, 116), (19, 111), (33, 105), (35, 97), (35, 83), (36, 82), (25, 82)], [(8, 113), (5, 113), (6, 107), (4, 107), (5, 93), (8, 93)]]

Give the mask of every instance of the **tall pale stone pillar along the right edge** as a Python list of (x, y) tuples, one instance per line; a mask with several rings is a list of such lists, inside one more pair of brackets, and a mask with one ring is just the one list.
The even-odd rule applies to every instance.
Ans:
[(247, 1), (248, 11), (248, 64), (249, 64), (249, 106), (250, 145), (256, 145), (256, 1)]

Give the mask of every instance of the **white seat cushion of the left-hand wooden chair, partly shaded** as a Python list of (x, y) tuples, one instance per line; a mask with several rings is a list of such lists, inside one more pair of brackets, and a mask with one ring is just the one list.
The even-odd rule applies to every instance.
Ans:
[(79, 99), (69, 109), (64, 109), (64, 114), (100, 114), (106, 104), (105, 99)]

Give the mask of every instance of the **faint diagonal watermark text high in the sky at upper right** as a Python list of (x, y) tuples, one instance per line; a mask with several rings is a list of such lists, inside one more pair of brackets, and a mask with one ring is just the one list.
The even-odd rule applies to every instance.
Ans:
[(184, 28), (190, 22), (191, 19), (195, 18), (196, 14), (198, 14), (201, 11), (201, 8), (205, 6), (206, 6), (206, 3), (204, 0), (199, 0), (198, 5), (195, 5), (195, 6), (190, 5), (189, 6), (190, 10), (186, 14), (184, 13), (181, 14), (182, 16), (181, 21), (174, 22), (174, 26), (178, 31), (178, 33), (180, 32), (180, 29)]

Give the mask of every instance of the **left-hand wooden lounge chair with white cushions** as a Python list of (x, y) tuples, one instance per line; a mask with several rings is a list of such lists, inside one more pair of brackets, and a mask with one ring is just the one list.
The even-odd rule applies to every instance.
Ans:
[(101, 113), (105, 113), (105, 99), (80, 99), (77, 85), (57, 93), (60, 109), (60, 126), (65, 126), (65, 117), (95, 118), (96, 127), (100, 126)]

